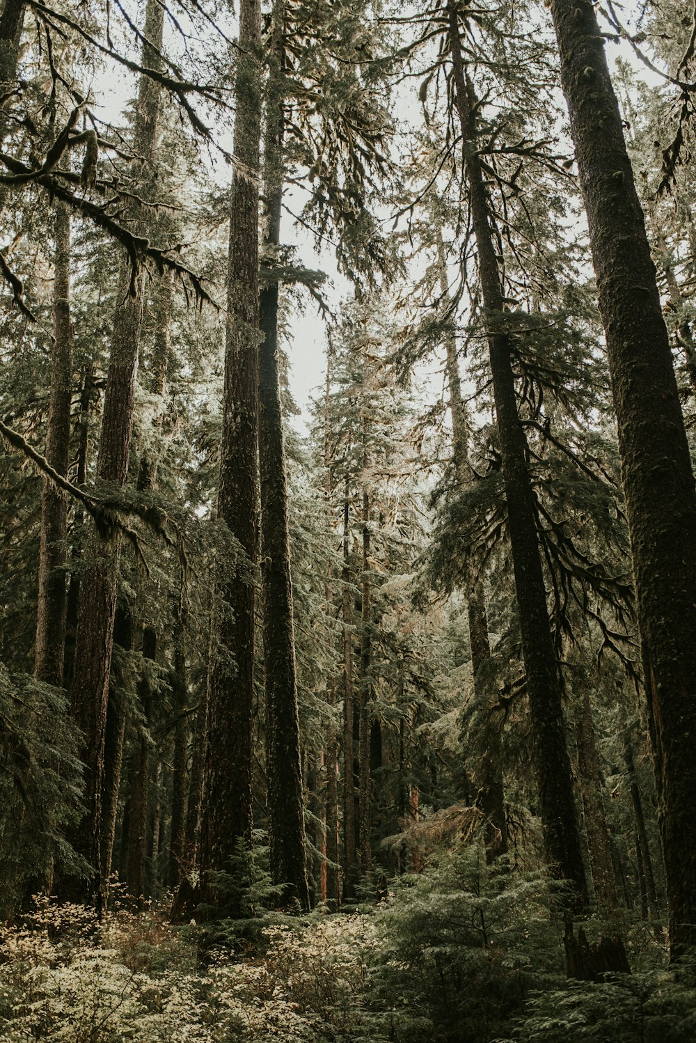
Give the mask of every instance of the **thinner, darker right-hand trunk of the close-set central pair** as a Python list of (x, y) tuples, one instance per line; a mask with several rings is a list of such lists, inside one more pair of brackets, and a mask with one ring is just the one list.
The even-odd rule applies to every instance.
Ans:
[(300, 725), (290, 574), (288, 482), (278, 373), (278, 263), (282, 205), (284, 3), (273, 10), (271, 71), (266, 106), (264, 188), (268, 231), (266, 285), (260, 291), (258, 349), (258, 464), (260, 472), (260, 561), (266, 682), (267, 814), (271, 876), (284, 884), (283, 900), (309, 907)]

